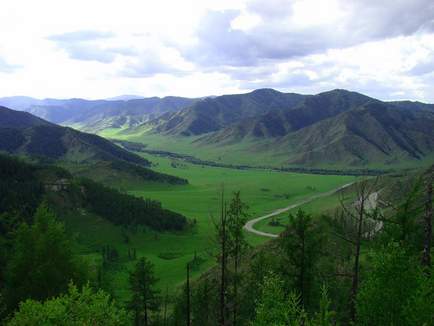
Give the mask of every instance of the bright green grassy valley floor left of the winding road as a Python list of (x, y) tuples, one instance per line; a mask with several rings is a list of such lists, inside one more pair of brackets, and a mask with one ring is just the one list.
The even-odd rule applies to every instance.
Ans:
[[(91, 214), (71, 212), (64, 217), (68, 230), (79, 232), (81, 251), (95, 264), (101, 264), (101, 245), (110, 244), (119, 250), (121, 263), (110, 272), (113, 289), (119, 301), (128, 298), (128, 269), (134, 264), (129, 255), (136, 251), (137, 257), (145, 256), (155, 264), (155, 272), (160, 277), (163, 293), (166, 286), (169, 291), (185, 281), (187, 262), (195, 256), (207, 260), (201, 268), (192, 273), (199, 275), (214, 263), (209, 258), (211, 249), (209, 237), (213, 230), (211, 214), (219, 214), (219, 194), (222, 184), (225, 199), (230, 200), (233, 191), (241, 192), (242, 201), (249, 206), (251, 218), (263, 216), (276, 209), (284, 208), (303, 199), (335, 189), (354, 181), (348, 176), (322, 176), (269, 171), (265, 169), (237, 170), (220, 167), (194, 165), (182, 161), (181, 167), (172, 167), (172, 160), (143, 154), (154, 164), (153, 169), (189, 180), (188, 185), (168, 185), (159, 183), (138, 183), (134, 180), (123, 181), (121, 187), (129, 193), (144, 198), (151, 198), (162, 203), (163, 207), (182, 213), (188, 219), (196, 220), (193, 234), (158, 233), (140, 227), (136, 233), (126, 230), (130, 242), (125, 243), (121, 227)], [(106, 182), (110, 180), (105, 176)], [(117, 178), (111, 180), (111, 186), (119, 187)], [(338, 204), (336, 195), (314, 200), (302, 206), (309, 213), (319, 214)], [(281, 223), (287, 223), (288, 213), (278, 216)], [(268, 221), (262, 221), (255, 228), (266, 232), (278, 233), (284, 227), (271, 227)], [(248, 242), (255, 246), (270, 238), (245, 233)]]

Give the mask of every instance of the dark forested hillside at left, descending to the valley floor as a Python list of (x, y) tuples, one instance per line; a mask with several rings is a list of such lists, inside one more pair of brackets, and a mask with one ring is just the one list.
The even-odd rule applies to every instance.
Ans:
[[(155, 180), (156, 175), (156, 172), (152, 172), (149, 177), (151, 180)], [(6, 304), (6, 310), (0, 310), (2, 317), (4, 317), (5, 312), (11, 313), (16, 309), (20, 301), (26, 299), (41, 300), (59, 295), (61, 290), (67, 288), (70, 280), (68, 277), (72, 278), (75, 275), (74, 281), (79, 282), (76, 284), (84, 284), (83, 277), (90, 279), (97, 277), (95, 271), (88, 267), (85, 269), (90, 274), (87, 276), (80, 274), (83, 272), (80, 266), (86, 263), (80, 262), (80, 266), (72, 263), (77, 255), (75, 249), (70, 248), (73, 246), (71, 242), (73, 240), (72, 238), (66, 240), (65, 235), (61, 235), (65, 232), (65, 227), (57, 221), (56, 214), (71, 214), (74, 211), (80, 212), (80, 214), (84, 212), (95, 214), (95, 216), (106, 219), (114, 225), (122, 225), (124, 228), (137, 229), (138, 226), (147, 226), (158, 232), (183, 232), (189, 223), (184, 216), (165, 209), (158, 201), (134, 197), (90, 179), (74, 178), (70, 172), (53, 165), (29, 164), (12, 156), (0, 154), (0, 291), (4, 293), (5, 298), (1, 302)], [(45, 220), (45, 218), (50, 221)], [(34, 225), (34, 223), (36, 224)], [(36, 264), (36, 261), (25, 265), (16, 265), (22, 264), (20, 257), (24, 253), (21, 253), (23, 247), (20, 246), (23, 246), (23, 243), (29, 244), (31, 241), (36, 241), (31, 246), (36, 246), (35, 249), (39, 250), (37, 242), (48, 241), (49, 238), (43, 240), (45, 235), (42, 237), (42, 233), (42, 238), (36, 233), (31, 235), (33, 232), (38, 232), (39, 229), (36, 228), (36, 225), (42, 225), (39, 226), (40, 232), (48, 232), (47, 237), (55, 237), (54, 233), (51, 234), (50, 232), (57, 232), (57, 236), (64, 239), (62, 241), (65, 241), (65, 247), (59, 248), (59, 254), (63, 255), (69, 250), (73, 250), (68, 253), (68, 257), (70, 257), (68, 259), (72, 259), (71, 264), (74, 264), (74, 268), (71, 267), (69, 271), (68, 269), (63, 270), (61, 279), (47, 274), (52, 272), (51, 269), (57, 269), (56, 264), (62, 264), (58, 260), (61, 259), (60, 257), (53, 258), (50, 262), (50, 266), (52, 266), (50, 271), (45, 270), (48, 265), (47, 267), (32, 265)], [(51, 227), (53, 229), (50, 229)], [(43, 249), (44, 246), (42, 245), (40, 249), (45, 250)], [(48, 248), (46, 249), (48, 250)], [(49, 253), (40, 254), (42, 255), (41, 259), (45, 259), (43, 257), (49, 255)], [(20, 268), (19, 275), (16, 273), (16, 268)], [(74, 274), (75, 268), (77, 268), (78, 274)], [(34, 276), (32, 273), (35, 271), (42, 274)], [(22, 282), (23, 278), (26, 277), (25, 273), (29, 273), (29, 279), (33, 279), (35, 284), (29, 286), (28, 289), (20, 286), (22, 290), (18, 291), (17, 282)], [(47, 288), (44, 285), (45, 290), (52, 291), (47, 292), (48, 294), (44, 292), (44, 294), (41, 292), (42, 290), (38, 290), (37, 286), (42, 286), (40, 282), (47, 282), (48, 280), (60, 283), (55, 288)]]

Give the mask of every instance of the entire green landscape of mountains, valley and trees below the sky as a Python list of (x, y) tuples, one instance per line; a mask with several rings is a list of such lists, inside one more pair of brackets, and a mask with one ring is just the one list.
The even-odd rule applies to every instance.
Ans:
[(433, 323), (431, 104), (189, 101), (1, 108), (5, 324)]

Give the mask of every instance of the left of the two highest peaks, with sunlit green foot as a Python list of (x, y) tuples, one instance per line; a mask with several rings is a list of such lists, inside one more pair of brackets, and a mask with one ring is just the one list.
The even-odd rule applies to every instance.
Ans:
[(220, 130), (246, 117), (260, 116), (269, 110), (293, 108), (308, 97), (260, 89), (248, 94), (206, 98), (123, 133), (140, 134), (151, 129), (152, 132), (174, 136), (200, 135)]

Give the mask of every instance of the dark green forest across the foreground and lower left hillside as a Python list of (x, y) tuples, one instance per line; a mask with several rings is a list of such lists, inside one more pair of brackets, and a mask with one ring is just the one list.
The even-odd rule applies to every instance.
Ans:
[[(103, 265), (89, 265), (76, 236), (58, 220), (62, 210), (56, 205), (66, 210), (79, 205), (135, 232), (140, 225), (186, 232), (193, 222), (158, 201), (73, 177), (62, 168), (9, 155), (0, 160), (0, 313), (6, 325), (434, 323), (429, 169), (393, 183), (376, 205), (371, 196), (378, 196), (381, 178), (362, 174), (354, 184), (358, 200), (348, 200), (342, 190), (334, 211), (291, 212), (279, 237), (255, 247), (242, 229), (250, 219), (242, 193), (227, 193), (222, 185), (220, 209), (210, 213), (207, 251), (213, 267), (191, 278), (201, 259), (195, 256), (185, 266), (184, 284), (169, 297), (154, 264), (129, 252), (130, 295), (118, 302), (107, 278), (120, 259), (116, 247), (103, 246)], [(63, 197), (47, 188), (59, 179)]]

